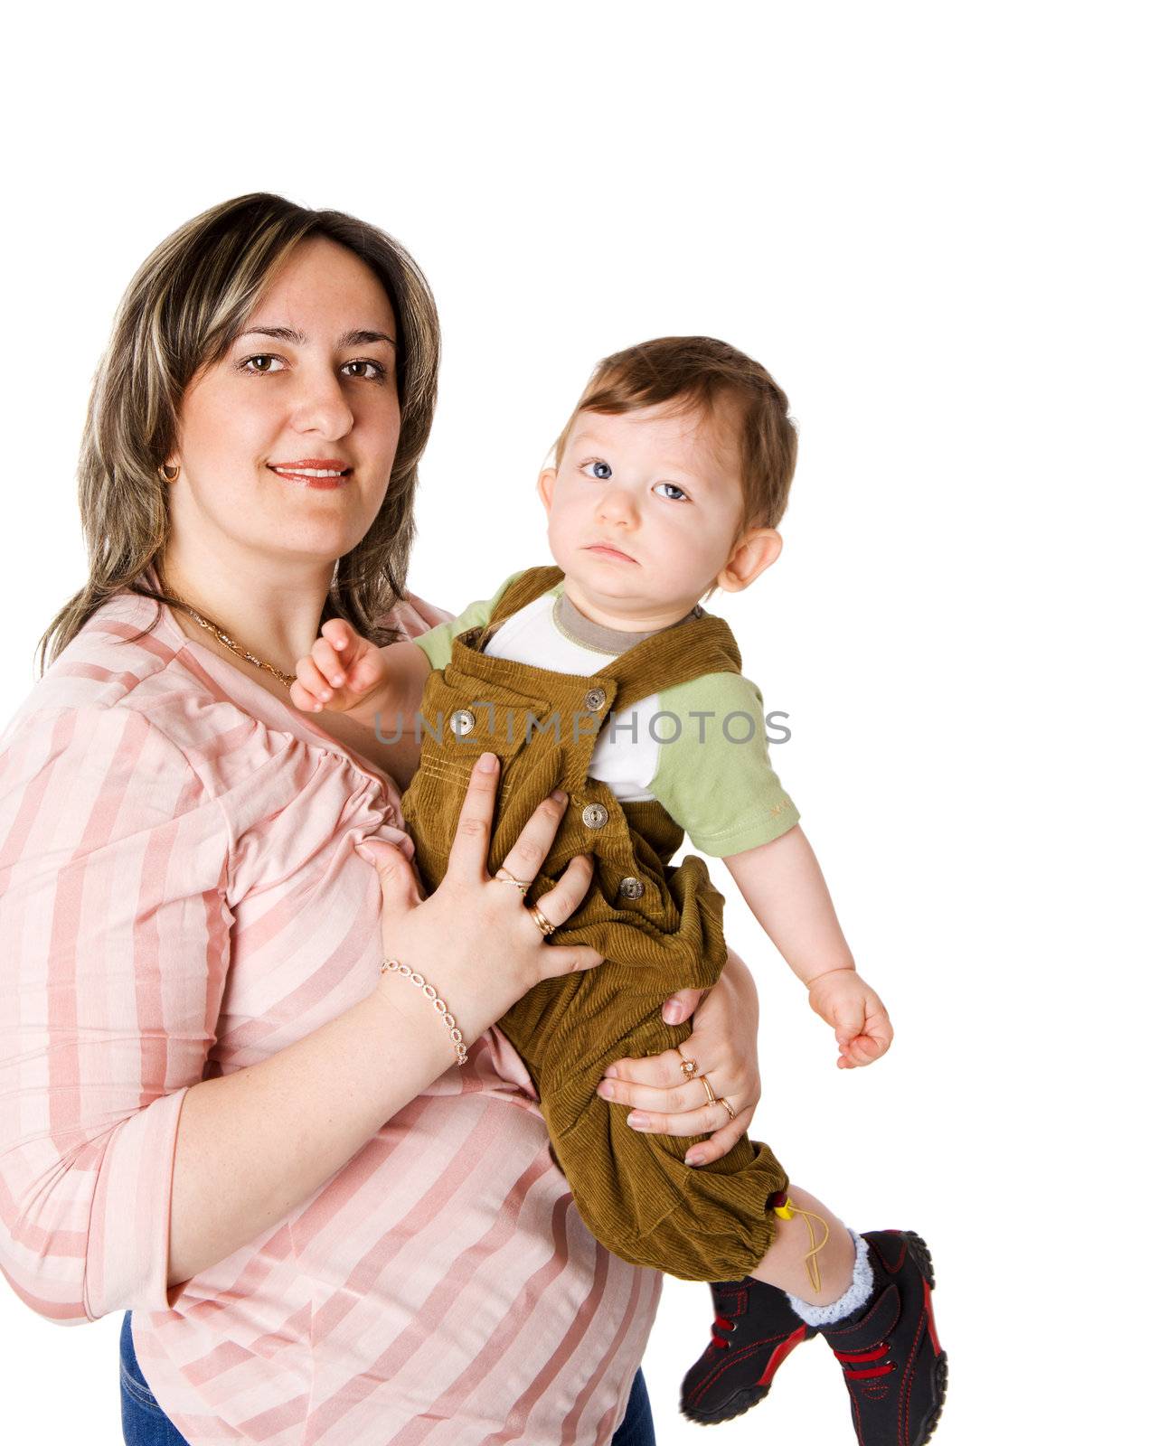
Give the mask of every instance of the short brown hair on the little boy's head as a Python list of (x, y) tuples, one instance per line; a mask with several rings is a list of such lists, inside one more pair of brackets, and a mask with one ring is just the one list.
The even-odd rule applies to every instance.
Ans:
[(716, 416), (718, 403), (726, 399), (735, 403), (741, 460), (739, 532), (776, 528), (797, 466), (797, 427), (789, 415), (789, 398), (760, 362), (716, 337), (658, 337), (599, 362), (556, 441), (556, 466), (580, 412), (618, 415), (677, 402), (680, 411)]

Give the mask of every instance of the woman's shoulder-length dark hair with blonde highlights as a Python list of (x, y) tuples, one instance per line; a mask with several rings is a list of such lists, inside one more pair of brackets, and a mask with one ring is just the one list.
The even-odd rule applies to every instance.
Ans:
[(336, 564), (323, 620), (344, 617), (375, 643), (396, 636), (378, 619), (405, 596), (418, 458), (438, 375), (434, 298), (414, 259), (385, 231), (343, 211), (313, 211), (260, 191), (203, 211), (168, 236), (122, 298), (93, 380), (78, 466), (88, 581), (41, 638), (41, 672), (45, 658), (54, 662), (114, 593), (179, 606), (142, 576), (155, 564), (164, 587), (169, 484), (158, 469), (177, 440), (181, 398), (203, 366), (226, 354), (292, 247), (314, 236), (337, 241), (370, 268), (399, 330), (401, 429), (389, 486), (366, 536)]

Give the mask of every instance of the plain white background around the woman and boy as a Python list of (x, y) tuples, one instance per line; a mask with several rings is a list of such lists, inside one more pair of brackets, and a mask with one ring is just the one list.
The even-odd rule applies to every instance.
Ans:
[[(945, 1446), (1150, 1420), (1143, 14), (203, 3), (9, 36), (4, 720), (85, 576), (74, 469), (117, 298), (230, 195), (352, 211), (427, 270), (446, 364), (411, 584), (438, 603), (547, 561), (535, 473), (599, 356), (703, 331), (789, 392), (784, 554), (710, 606), (790, 713), (774, 763), (897, 1040), (838, 1070), (732, 894), (754, 1134), (854, 1226), (929, 1241)], [(666, 1287), (664, 1446), (705, 1440), (674, 1403), (709, 1317)], [(120, 1319), (59, 1329), (0, 1284), (0, 1436), (120, 1442)], [(719, 1432), (852, 1440), (823, 1342)]]

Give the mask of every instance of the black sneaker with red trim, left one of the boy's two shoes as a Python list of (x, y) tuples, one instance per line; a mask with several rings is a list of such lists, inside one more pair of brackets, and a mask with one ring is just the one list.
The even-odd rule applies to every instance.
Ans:
[(729, 1421), (763, 1401), (781, 1361), (818, 1333), (783, 1290), (751, 1275), (710, 1281), (710, 1290), (712, 1340), (680, 1387), (680, 1410), (702, 1426)]

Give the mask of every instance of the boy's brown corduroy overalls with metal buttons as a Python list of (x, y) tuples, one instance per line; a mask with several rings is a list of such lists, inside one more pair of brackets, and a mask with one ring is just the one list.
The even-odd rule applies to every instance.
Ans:
[(535, 1082), (592, 1235), (634, 1265), (684, 1280), (738, 1280), (773, 1242), (768, 1196), (789, 1183), (768, 1147), (745, 1135), (722, 1160), (686, 1165), (689, 1138), (640, 1134), (625, 1124), (624, 1106), (596, 1095), (614, 1060), (658, 1054), (692, 1032), (690, 1024), (664, 1024), (660, 1006), (676, 989), (719, 979), (723, 899), (700, 857), (670, 865), (684, 834), (657, 800), (621, 803), (587, 766), (612, 710), (624, 714), (706, 672), (739, 671), (739, 651), (728, 623), (705, 613), (653, 633), (589, 677), (488, 656), (483, 646), (496, 628), (561, 576), (538, 567), (518, 577), (488, 626), (453, 639), (450, 662), (427, 680), (421, 763), (402, 798), (415, 863), (425, 888), (437, 888), (483, 750), (501, 766), (492, 873), (538, 804), (556, 788), (567, 792), (567, 813), (527, 897), (538, 899), (574, 855), (592, 853), (587, 895), (551, 937), (590, 944), (605, 962), (535, 985), (499, 1028)]

